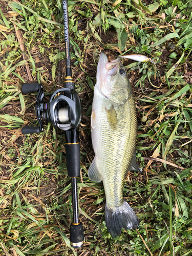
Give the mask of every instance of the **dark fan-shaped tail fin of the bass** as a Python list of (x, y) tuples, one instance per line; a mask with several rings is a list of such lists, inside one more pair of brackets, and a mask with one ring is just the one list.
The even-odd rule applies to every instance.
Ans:
[(136, 229), (139, 227), (139, 220), (135, 212), (125, 201), (115, 210), (105, 205), (105, 223), (112, 238), (119, 236), (122, 227), (124, 229)]

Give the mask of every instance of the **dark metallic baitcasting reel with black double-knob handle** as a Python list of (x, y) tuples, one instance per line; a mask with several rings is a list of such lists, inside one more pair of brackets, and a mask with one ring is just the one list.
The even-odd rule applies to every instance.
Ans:
[(38, 83), (24, 83), (24, 94), (38, 92), (36, 97), (36, 116), (39, 126), (24, 126), (23, 134), (40, 133), (44, 130), (43, 121), (51, 122), (55, 129), (68, 131), (76, 129), (82, 118), (81, 103), (77, 92), (70, 88), (58, 89), (48, 102), (44, 102), (42, 86)]

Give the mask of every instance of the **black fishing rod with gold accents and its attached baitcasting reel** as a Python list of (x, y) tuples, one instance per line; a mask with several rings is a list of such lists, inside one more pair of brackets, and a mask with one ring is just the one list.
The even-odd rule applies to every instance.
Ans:
[(70, 226), (70, 243), (79, 248), (84, 243), (82, 223), (79, 221), (77, 177), (80, 176), (80, 144), (78, 126), (82, 118), (82, 108), (75, 82), (72, 77), (70, 57), (70, 37), (68, 23), (68, 4), (63, 0), (63, 19), (65, 29), (66, 78), (62, 89), (56, 90), (48, 102), (44, 102), (44, 93), (39, 83), (24, 83), (24, 94), (38, 92), (36, 97), (36, 117), (39, 126), (24, 126), (23, 134), (40, 133), (44, 131), (44, 122), (51, 122), (55, 129), (62, 130), (66, 139), (66, 162), (68, 176), (71, 178), (73, 222)]

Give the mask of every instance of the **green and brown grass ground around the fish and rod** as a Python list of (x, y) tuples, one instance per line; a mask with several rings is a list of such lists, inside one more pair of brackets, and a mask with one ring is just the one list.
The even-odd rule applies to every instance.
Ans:
[[(65, 138), (50, 124), (41, 134), (23, 136), (20, 131), (23, 125), (37, 124), (36, 95), (21, 93), (22, 83), (29, 81), (26, 64), (47, 100), (63, 87), (62, 6), (58, 0), (0, 0), (0, 5), (0, 254), (192, 255), (191, 1), (69, 1), (73, 76), (86, 116), (79, 127), (78, 179), (86, 242), (75, 250), (69, 243), (72, 197)], [(123, 60), (135, 93), (136, 156), (143, 172), (129, 172), (124, 184), (124, 197), (140, 227), (122, 230), (116, 239), (105, 226), (102, 183), (88, 178), (94, 157), (89, 120), (100, 50), (110, 60), (121, 53), (141, 53), (156, 62)]]

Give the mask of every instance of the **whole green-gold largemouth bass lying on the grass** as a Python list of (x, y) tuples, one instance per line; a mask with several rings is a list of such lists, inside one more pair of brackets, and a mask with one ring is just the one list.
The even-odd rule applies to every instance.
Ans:
[(108, 62), (101, 52), (91, 115), (95, 158), (89, 178), (103, 181), (106, 204), (105, 223), (113, 238), (121, 229), (135, 229), (139, 220), (123, 199), (123, 182), (136, 163), (137, 115), (131, 84), (120, 58)]

